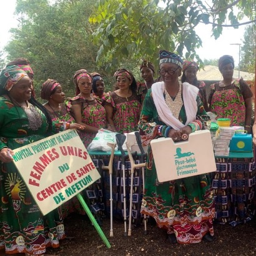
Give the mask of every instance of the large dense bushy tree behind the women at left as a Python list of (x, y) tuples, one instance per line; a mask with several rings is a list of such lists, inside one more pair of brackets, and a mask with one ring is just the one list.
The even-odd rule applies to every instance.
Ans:
[(72, 76), (78, 69), (104, 74), (96, 65), (97, 45), (92, 44), (94, 26), (89, 24), (93, 0), (19, 0), (19, 27), (12, 29), (6, 46), (8, 59), (26, 57), (35, 72), (36, 94), (42, 82), (56, 79), (67, 95), (74, 95)]

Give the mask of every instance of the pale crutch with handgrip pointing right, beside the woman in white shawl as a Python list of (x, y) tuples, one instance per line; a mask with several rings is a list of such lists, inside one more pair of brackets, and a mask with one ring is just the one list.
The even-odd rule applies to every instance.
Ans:
[(127, 152), (130, 159), (130, 209), (129, 209), (129, 227), (128, 227), (128, 235), (132, 235), (132, 194), (133, 194), (133, 185), (134, 185), (134, 170), (136, 168), (144, 168), (145, 163), (135, 164), (134, 157), (132, 156), (132, 152), (130, 152), (130, 143), (126, 142)]

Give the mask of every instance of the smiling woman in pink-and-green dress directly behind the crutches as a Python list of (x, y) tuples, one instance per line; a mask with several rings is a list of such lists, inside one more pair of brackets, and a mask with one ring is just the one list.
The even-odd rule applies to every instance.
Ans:
[(119, 88), (103, 97), (108, 129), (114, 132), (129, 133), (138, 129), (140, 102), (136, 93), (136, 81), (131, 72), (119, 69), (114, 74)]

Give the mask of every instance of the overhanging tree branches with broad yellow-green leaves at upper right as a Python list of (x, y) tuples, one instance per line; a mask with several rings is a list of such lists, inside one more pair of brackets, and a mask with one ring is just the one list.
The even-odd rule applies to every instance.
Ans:
[[(212, 24), (217, 39), (222, 26), (238, 27), (244, 16), (254, 21), (256, 10), (255, 0), (214, 0), (212, 6), (207, 2), (165, 0), (160, 7), (158, 0), (99, 0), (90, 18), (98, 26), (94, 32), (94, 42), (100, 45), (97, 61), (107, 61), (110, 67), (128, 56), (156, 61), (159, 49), (170, 49), (202, 64), (196, 53), (202, 41), (194, 31), (199, 22)], [(237, 14), (234, 7), (239, 10)], [(223, 25), (227, 19), (230, 24)]]

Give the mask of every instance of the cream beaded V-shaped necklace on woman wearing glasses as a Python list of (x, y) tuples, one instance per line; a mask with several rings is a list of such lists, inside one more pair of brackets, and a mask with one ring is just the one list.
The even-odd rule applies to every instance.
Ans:
[(181, 84), (179, 84), (179, 91), (175, 96), (175, 99), (172, 99), (172, 97), (170, 97), (170, 94), (167, 92), (165, 85), (164, 85), (164, 93), (165, 93), (165, 103), (167, 104), (170, 111), (172, 112), (172, 115), (176, 119), (179, 119), (180, 109), (183, 106), (183, 101), (181, 97)]

